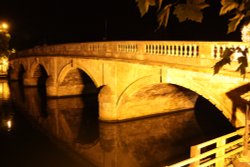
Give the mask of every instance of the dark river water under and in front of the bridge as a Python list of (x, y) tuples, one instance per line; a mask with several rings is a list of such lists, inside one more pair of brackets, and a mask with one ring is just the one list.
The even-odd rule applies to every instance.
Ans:
[(98, 120), (97, 95), (46, 99), (0, 80), (1, 167), (158, 167), (233, 127), (203, 98), (195, 110), (123, 123)]

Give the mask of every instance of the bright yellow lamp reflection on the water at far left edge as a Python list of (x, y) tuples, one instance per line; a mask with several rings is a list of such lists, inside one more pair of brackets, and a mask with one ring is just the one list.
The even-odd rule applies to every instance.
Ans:
[(0, 79), (0, 130), (11, 131), (13, 112), (9, 109), (10, 89), (6, 80)]

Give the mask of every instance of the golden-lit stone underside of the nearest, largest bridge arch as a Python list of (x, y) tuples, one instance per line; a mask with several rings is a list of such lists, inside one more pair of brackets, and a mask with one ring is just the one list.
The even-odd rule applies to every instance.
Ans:
[(117, 117), (121, 120), (133, 119), (191, 109), (197, 97), (193, 91), (163, 83), (160, 75), (144, 76), (131, 83), (119, 96)]

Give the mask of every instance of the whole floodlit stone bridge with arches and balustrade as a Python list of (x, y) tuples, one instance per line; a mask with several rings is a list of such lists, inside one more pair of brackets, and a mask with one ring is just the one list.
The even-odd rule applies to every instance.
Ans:
[[(97, 92), (99, 119), (123, 121), (190, 109), (203, 96), (243, 126), (249, 76), (213, 65), (242, 42), (123, 41), (38, 46), (10, 58), (10, 79), (46, 86), (47, 96)], [(248, 72), (248, 71), (247, 71)]]

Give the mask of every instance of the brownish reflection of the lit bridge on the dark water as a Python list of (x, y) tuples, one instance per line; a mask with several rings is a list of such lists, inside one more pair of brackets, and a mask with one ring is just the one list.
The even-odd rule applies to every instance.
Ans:
[(13, 102), (34, 126), (97, 167), (171, 164), (205, 140), (193, 111), (103, 123), (98, 121), (97, 95), (46, 99), (37, 88), (20, 89), (18, 83), (11, 90)]

